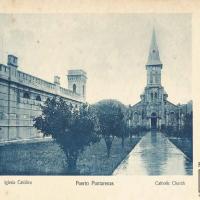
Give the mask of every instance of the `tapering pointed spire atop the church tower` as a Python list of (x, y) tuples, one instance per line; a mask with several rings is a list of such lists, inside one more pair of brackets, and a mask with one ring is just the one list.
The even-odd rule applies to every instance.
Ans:
[(149, 50), (149, 57), (146, 65), (162, 65), (159, 56), (158, 45), (156, 42), (156, 33), (155, 29), (153, 28), (152, 38), (151, 38), (151, 45)]

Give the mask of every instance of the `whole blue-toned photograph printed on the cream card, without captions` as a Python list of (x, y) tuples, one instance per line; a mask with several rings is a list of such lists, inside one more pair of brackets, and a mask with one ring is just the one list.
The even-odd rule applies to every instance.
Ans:
[(0, 14), (0, 175), (193, 175), (190, 14)]

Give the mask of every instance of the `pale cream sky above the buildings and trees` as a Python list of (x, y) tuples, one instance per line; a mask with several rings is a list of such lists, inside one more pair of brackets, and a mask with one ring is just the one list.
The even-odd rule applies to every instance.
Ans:
[(53, 82), (67, 71), (87, 72), (87, 101), (135, 104), (146, 86), (153, 27), (168, 100), (192, 99), (190, 14), (1, 14), (0, 63), (18, 57), (18, 69)]

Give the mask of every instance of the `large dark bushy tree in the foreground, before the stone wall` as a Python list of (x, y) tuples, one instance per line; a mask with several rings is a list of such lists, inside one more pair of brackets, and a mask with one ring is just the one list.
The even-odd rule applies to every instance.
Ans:
[(68, 105), (63, 98), (48, 99), (42, 114), (34, 119), (34, 126), (52, 136), (63, 149), (68, 164), (68, 172), (76, 173), (76, 162), (84, 147), (97, 142), (95, 134), (96, 117), (91, 106), (81, 104), (79, 109)]

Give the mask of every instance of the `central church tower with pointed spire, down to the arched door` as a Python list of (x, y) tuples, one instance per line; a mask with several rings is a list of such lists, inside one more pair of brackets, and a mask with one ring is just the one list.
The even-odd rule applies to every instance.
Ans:
[(164, 101), (166, 92), (161, 85), (162, 63), (160, 61), (159, 49), (156, 41), (156, 33), (153, 29), (149, 56), (146, 64), (147, 85), (145, 87), (143, 101), (146, 106), (146, 117), (148, 126), (156, 129), (164, 123)]

